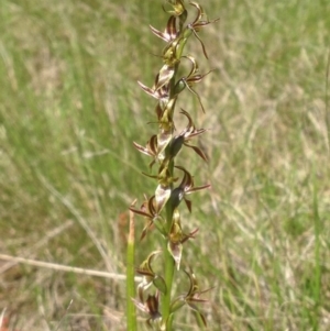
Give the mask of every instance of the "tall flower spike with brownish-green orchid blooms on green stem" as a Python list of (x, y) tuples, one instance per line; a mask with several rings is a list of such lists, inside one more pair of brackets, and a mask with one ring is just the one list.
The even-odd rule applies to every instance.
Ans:
[[(138, 143), (134, 143), (134, 146), (139, 152), (152, 157), (150, 169), (154, 173), (143, 174), (156, 180), (156, 187), (154, 194), (150, 198), (145, 198), (140, 208), (131, 206), (130, 210), (146, 221), (141, 240), (154, 228), (160, 233), (162, 251), (151, 252), (136, 268), (136, 273), (143, 277), (143, 280), (138, 286), (138, 298), (131, 299), (140, 310), (148, 315), (147, 324), (162, 331), (172, 330), (174, 315), (184, 306), (196, 312), (197, 323), (201, 321), (206, 326), (206, 318), (197, 306), (197, 304), (206, 302), (199, 297), (206, 290), (199, 290), (193, 269), (185, 271), (190, 282), (188, 291), (179, 295), (173, 294), (174, 277), (179, 275), (183, 264), (184, 245), (189, 239), (194, 239), (198, 232), (198, 229), (190, 233), (184, 231), (185, 228), (180, 219), (182, 202), (185, 201), (184, 205), (191, 212), (191, 201), (187, 199), (187, 196), (210, 186), (196, 187), (193, 175), (186, 166), (177, 161), (180, 150), (188, 147), (207, 162), (206, 154), (198, 146), (190, 144), (191, 139), (201, 135), (206, 130), (196, 129), (189, 112), (180, 109), (179, 114), (185, 117), (188, 123), (180, 133), (177, 133), (174, 113), (178, 98), (186, 89), (198, 99), (200, 108), (205, 112), (201, 99), (194, 87), (210, 71), (199, 74), (196, 58), (185, 54), (185, 46), (190, 37), (195, 36), (201, 45), (202, 54), (208, 58), (198, 32), (204, 26), (218, 21), (209, 21), (201, 5), (197, 2), (189, 2), (188, 7), (195, 12), (193, 22), (187, 22), (188, 8), (184, 0), (166, 1), (164, 10), (169, 14), (169, 18), (164, 32), (151, 26), (152, 33), (166, 43), (162, 53), (163, 66), (156, 74), (152, 87), (139, 81), (140, 87), (148, 96), (156, 99), (155, 115), (158, 130), (153, 133), (145, 146)], [(190, 63), (190, 70), (187, 75), (178, 77), (178, 70), (184, 62)], [(155, 273), (153, 268), (157, 255), (163, 256), (162, 273)]]

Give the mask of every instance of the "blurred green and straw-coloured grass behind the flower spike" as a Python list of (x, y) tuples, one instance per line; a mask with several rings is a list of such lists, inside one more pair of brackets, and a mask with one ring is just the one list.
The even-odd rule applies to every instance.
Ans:
[[(152, 86), (161, 67), (148, 30), (166, 24), (161, 4), (1, 1), (2, 253), (125, 272), (128, 206), (155, 187), (132, 141), (156, 132), (155, 101), (136, 80)], [(199, 144), (210, 162), (183, 151), (179, 164), (212, 185), (183, 217), (185, 231), (199, 228), (183, 264), (213, 287), (208, 330), (329, 330), (330, 3), (200, 4), (220, 18), (200, 34), (209, 62), (196, 40), (187, 48), (201, 71), (216, 69), (197, 87), (207, 113), (187, 91), (178, 106), (209, 129)], [(139, 244), (138, 261), (158, 239)], [(124, 294), (123, 282), (0, 264), (0, 308), (18, 330), (125, 330)], [(198, 329), (186, 308), (175, 321)]]

